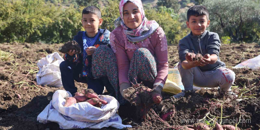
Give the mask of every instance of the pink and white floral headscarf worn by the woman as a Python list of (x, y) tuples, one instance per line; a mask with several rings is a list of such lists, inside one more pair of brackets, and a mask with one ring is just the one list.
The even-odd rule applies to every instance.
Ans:
[[(142, 22), (136, 29), (129, 29), (129, 27), (127, 27), (124, 22), (123, 8), (127, 1), (134, 3), (138, 7), (141, 13)], [(152, 21), (147, 20), (144, 14), (144, 9), (141, 0), (121, 0), (119, 3), (119, 12), (120, 12), (120, 17), (118, 17), (115, 20), (114, 25), (115, 27), (121, 25), (124, 28), (124, 33), (126, 34), (128, 40), (132, 42), (141, 41), (149, 37), (159, 27), (158, 23), (155, 20)]]

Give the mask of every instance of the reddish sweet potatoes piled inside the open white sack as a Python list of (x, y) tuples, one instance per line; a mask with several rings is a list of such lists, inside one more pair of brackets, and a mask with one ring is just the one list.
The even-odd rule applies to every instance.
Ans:
[(64, 107), (68, 107), (79, 102), (88, 102), (91, 105), (99, 108), (102, 104), (108, 104), (107, 101), (98, 98), (98, 95), (92, 89), (83, 90), (83, 93), (84, 94), (76, 92), (74, 97), (67, 98)]

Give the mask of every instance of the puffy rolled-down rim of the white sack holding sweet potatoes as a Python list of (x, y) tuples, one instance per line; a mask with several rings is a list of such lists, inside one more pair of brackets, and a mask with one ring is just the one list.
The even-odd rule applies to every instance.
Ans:
[(90, 103), (81, 102), (64, 107), (65, 99), (72, 97), (68, 91), (57, 90), (52, 96), (53, 107), (61, 114), (69, 116), (77, 121), (100, 122), (115, 115), (119, 108), (116, 98), (109, 95), (98, 95), (100, 99), (108, 102), (107, 105), (102, 104), (101, 108), (94, 107)]

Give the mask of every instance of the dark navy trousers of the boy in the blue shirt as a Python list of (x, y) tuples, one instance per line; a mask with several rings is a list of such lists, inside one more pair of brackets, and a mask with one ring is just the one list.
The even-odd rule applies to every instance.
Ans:
[(80, 77), (82, 64), (73, 64), (68, 61), (62, 61), (60, 64), (61, 81), (64, 89), (69, 91), (72, 96), (75, 95), (78, 88), (75, 87), (75, 82), (87, 83), (88, 89), (94, 90), (98, 95), (103, 94), (104, 86), (111, 96), (115, 97), (115, 90), (110, 84), (107, 77), (101, 77), (100, 79), (90, 79), (86, 77)]

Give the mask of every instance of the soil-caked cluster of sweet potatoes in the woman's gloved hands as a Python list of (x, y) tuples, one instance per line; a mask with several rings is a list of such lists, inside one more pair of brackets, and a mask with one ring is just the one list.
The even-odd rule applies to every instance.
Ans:
[(140, 84), (128, 88), (125, 97), (130, 99), (130, 103), (137, 106), (137, 114), (146, 118), (146, 114), (150, 111), (152, 105), (160, 103), (163, 100), (161, 94), (152, 91), (150, 88)]

